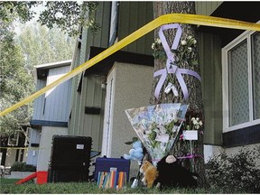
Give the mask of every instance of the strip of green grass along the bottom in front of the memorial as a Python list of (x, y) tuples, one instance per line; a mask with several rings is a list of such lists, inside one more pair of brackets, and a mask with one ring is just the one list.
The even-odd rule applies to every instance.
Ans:
[(58, 183), (47, 183), (47, 184), (34, 184), (31, 181), (29, 183), (24, 183), (21, 185), (15, 185), (14, 182), (18, 180), (14, 179), (1, 179), (1, 194), (212, 194), (212, 193), (245, 193), (237, 192), (233, 190), (222, 190), (222, 189), (168, 189), (168, 190), (158, 190), (158, 189), (145, 189), (136, 188), (131, 189), (127, 187), (122, 190), (113, 189), (98, 189), (95, 182), (58, 182)]

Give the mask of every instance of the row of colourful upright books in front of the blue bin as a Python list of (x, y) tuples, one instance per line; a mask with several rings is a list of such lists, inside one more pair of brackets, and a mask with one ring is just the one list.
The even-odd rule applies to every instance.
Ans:
[(111, 167), (110, 172), (98, 172), (98, 188), (122, 189), (126, 186), (126, 172), (117, 172)]

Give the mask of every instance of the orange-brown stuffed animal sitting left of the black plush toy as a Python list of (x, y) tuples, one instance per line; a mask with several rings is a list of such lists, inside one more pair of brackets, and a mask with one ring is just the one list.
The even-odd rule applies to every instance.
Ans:
[(152, 163), (144, 161), (140, 168), (140, 172), (144, 173), (144, 178), (142, 179), (144, 185), (147, 185), (147, 188), (153, 187), (153, 182), (158, 177), (158, 171)]

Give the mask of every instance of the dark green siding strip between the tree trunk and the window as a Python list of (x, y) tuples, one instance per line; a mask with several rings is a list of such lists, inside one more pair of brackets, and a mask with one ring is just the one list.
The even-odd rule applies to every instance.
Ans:
[(221, 44), (216, 35), (199, 34), (200, 71), (205, 115), (204, 144), (222, 144)]

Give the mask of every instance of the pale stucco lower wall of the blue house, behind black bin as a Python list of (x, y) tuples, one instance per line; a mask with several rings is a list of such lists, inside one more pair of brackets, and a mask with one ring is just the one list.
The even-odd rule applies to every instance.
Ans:
[(68, 135), (67, 127), (42, 126), (37, 171), (47, 171), (51, 157), (53, 135)]

